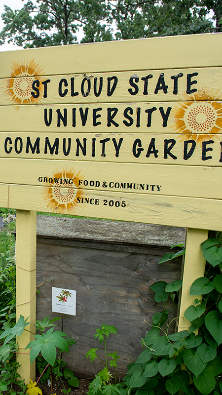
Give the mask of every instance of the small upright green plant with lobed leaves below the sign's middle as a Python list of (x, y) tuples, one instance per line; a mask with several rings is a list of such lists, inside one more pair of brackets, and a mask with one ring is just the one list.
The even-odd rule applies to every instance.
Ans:
[[(100, 394), (107, 394), (107, 395), (120, 395), (120, 388), (121, 384), (116, 384), (116, 368), (117, 368), (117, 359), (119, 356), (117, 355), (117, 351), (114, 353), (107, 354), (107, 340), (111, 334), (115, 334), (117, 329), (112, 325), (103, 324), (101, 328), (96, 329), (96, 334), (94, 335), (95, 339), (98, 338), (100, 343), (104, 345), (104, 353), (105, 353), (105, 360), (100, 358), (97, 355), (98, 348), (90, 349), (86, 354), (86, 358), (90, 358), (91, 362), (95, 359), (99, 358), (103, 365), (105, 366), (103, 370), (98, 372), (95, 376), (95, 379), (89, 385), (89, 395), (100, 395)], [(110, 358), (110, 360), (108, 360)], [(112, 384), (112, 375), (109, 371), (108, 364), (110, 367), (114, 368), (114, 379), (115, 384)], [(125, 392), (124, 392), (125, 393)]]

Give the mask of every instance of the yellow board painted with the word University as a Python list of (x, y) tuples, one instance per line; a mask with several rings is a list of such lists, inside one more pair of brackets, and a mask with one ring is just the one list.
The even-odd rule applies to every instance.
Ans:
[(222, 133), (222, 102), (0, 106), (1, 132)]

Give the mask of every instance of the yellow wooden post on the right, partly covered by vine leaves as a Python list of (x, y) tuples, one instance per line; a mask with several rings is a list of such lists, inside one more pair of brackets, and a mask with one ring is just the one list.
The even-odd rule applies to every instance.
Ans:
[(198, 298), (198, 296), (191, 296), (189, 289), (196, 278), (204, 276), (206, 260), (203, 257), (200, 244), (207, 237), (208, 231), (204, 229), (188, 228), (186, 231), (186, 253), (178, 331), (188, 329), (190, 326), (190, 322), (185, 318), (184, 313), (187, 307), (194, 304), (194, 299)]

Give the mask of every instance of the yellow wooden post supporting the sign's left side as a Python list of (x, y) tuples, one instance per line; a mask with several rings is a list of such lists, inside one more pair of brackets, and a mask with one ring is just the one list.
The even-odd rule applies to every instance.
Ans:
[[(36, 323), (36, 212), (16, 210), (16, 316), (29, 317), (26, 326), (35, 333)], [(30, 362), (30, 349), (27, 344), (33, 335), (24, 331), (18, 337), (18, 373), (25, 383), (35, 381), (35, 361)]]

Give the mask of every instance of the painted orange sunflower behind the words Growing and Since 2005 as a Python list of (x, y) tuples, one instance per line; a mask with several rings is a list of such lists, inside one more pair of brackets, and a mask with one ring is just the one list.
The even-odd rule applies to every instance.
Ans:
[[(47, 178), (49, 182), (45, 183), (47, 187), (42, 191), (47, 207), (59, 214), (74, 215), (77, 197), (81, 197), (83, 194), (78, 183), (79, 178), (84, 178), (80, 175), (80, 171), (75, 174), (73, 167), (70, 169), (63, 167), (62, 170), (56, 168), (53, 175)], [(65, 179), (72, 180), (72, 184), (66, 182)]]

